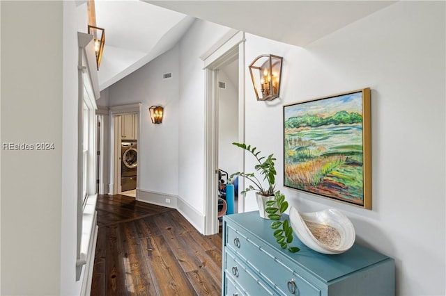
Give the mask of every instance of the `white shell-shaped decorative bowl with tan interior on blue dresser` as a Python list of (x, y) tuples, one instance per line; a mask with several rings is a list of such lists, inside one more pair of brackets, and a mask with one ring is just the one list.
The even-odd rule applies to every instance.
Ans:
[(335, 208), (301, 213), (290, 208), (290, 224), (296, 236), (310, 249), (323, 254), (340, 254), (355, 242), (351, 221)]

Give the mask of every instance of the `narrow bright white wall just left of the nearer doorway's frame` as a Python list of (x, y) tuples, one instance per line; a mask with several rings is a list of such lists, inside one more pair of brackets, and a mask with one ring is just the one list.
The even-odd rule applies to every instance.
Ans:
[[(204, 71), (199, 56), (206, 52), (229, 28), (197, 20), (180, 41), (180, 117), (178, 195), (184, 204), (205, 215), (204, 197)], [(203, 231), (203, 224), (194, 223)]]

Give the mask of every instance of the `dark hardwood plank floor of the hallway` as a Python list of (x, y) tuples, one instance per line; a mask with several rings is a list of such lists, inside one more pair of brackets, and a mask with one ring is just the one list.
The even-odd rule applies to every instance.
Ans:
[(220, 295), (222, 238), (178, 211), (99, 195), (91, 295)]

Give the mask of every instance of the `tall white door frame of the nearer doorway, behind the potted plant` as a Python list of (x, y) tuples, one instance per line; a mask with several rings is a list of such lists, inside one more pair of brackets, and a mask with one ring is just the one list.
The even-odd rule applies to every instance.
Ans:
[[(245, 139), (245, 33), (231, 29), (205, 54), (200, 56), (205, 70), (205, 135), (204, 135), (204, 229), (206, 235), (218, 233), (217, 186), (218, 186), (218, 101), (217, 74), (220, 67), (238, 58), (238, 140)], [(240, 164), (243, 171), (245, 158)], [(241, 181), (241, 182), (240, 182)], [(239, 187), (243, 187), (239, 179)], [(244, 211), (243, 198), (238, 200), (238, 212)]]

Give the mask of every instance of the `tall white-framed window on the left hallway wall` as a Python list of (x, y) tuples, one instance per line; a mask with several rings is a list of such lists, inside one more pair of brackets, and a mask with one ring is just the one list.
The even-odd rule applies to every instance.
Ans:
[[(86, 290), (93, 273), (96, 225), (96, 99), (99, 98), (93, 36), (78, 33), (77, 254), (76, 280)], [(83, 274), (83, 276), (82, 276)], [(81, 291), (82, 291), (81, 290)], [(84, 294), (82, 294), (84, 295)]]

